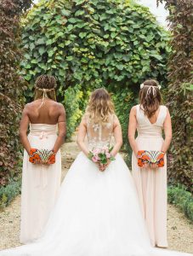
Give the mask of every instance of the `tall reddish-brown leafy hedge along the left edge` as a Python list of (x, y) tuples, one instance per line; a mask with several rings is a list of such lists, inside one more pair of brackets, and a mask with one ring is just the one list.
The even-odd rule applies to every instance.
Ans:
[(20, 14), (29, 8), (30, 0), (0, 2), (0, 185), (18, 175), (20, 142), (18, 124), (24, 83), (19, 68)]

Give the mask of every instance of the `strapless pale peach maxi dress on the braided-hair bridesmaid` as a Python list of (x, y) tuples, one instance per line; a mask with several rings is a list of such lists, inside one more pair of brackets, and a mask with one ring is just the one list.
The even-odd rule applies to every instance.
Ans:
[[(52, 149), (57, 138), (57, 125), (31, 124), (28, 135), (31, 148)], [(20, 242), (27, 243), (41, 236), (60, 192), (61, 156), (56, 154), (55, 164), (34, 165), (24, 152)]]

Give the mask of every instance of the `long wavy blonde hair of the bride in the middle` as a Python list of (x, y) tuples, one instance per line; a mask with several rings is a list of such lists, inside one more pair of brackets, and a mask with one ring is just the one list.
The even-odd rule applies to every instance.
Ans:
[(94, 122), (108, 122), (111, 114), (115, 113), (114, 104), (111, 101), (111, 96), (104, 88), (96, 89), (92, 92), (86, 114)]

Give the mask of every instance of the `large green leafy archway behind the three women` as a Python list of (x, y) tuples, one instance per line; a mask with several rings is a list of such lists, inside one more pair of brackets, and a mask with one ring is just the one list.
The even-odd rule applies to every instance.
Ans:
[(77, 126), (88, 93), (105, 86), (113, 93), (127, 141), (128, 112), (139, 84), (167, 84), (168, 34), (150, 11), (130, 1), (43, 0), (23, 22), (22, 75), (29, 81), (52, 73), (68, 118), (68, 137)]

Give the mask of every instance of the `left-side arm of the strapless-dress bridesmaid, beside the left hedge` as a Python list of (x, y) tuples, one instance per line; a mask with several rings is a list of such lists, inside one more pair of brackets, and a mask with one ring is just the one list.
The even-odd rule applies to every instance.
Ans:
[(28, 108), (26, 105), (21, 116), (19, 133), (20, 133), (20, 141), (23, 147), (26, 149), (27, 154), (30, 154), (30, 149), (31, 149), (30, 142), (27, 138), (27, 129), (28, 129), (29, 123), (30, 123), (30, 119), (28, 116)]

